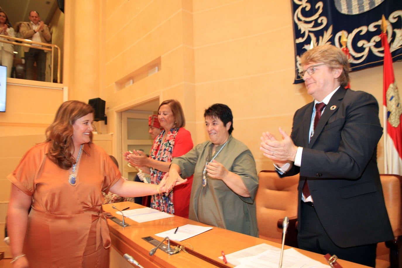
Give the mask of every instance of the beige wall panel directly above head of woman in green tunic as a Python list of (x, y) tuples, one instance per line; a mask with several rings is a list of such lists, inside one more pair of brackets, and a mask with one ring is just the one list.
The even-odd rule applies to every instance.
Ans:
[[(201, 105), (196, 112), (197, 120), (203, 120), (201, 118), (203, 109), (213, 103), (224, 103), (232, 109), (234, 115), (242, 117), (293, 116), (295, 109), (306, 104), (307, 100), (310, 102), (312, 97), (306, 94), (303, 84), (292, 85), (289, 82), (292, 77), (288, 74), (289, 72), (286, 74), (283, 71), (197, 85), (195, 94), (197, 104)], [(282, 83), (273, 86), (275, 84), (271, 83), (273, 80)], [(287, 98), (286, 105), (280, 101), (284, 98), (284, 94)]]

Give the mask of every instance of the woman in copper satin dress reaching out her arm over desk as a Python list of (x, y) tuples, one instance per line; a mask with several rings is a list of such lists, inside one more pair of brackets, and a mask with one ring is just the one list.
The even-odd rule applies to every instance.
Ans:
[(93, 112), (84, 102), (64, 102), (46, 142), (29, 149), (8, 175), (13, 267), (109, 267), (110, 214), (102, 211), (102, 190), (120, 196), (164, 192), (121, 178), (109, 155), (91, 143)]

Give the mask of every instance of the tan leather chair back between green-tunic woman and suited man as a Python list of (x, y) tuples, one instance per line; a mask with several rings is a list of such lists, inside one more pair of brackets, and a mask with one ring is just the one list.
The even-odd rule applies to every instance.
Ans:
[(258, 181), (255, 198), (258, 232), (261, 238), (281, 239), (278, 219), (297, 217), (299, 175), (279, 178), (275, 171), (263, 170), (258, 173)]

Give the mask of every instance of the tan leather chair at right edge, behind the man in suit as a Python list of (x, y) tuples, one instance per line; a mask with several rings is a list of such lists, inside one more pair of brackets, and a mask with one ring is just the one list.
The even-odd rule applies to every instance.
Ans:
[[(385, 206), (390, 218), (394, 237), (402, 235), (402, 177), (392, 174), (380, 174)], [(385, 243), (377, 245), (377, 259), (390, 261), (390, 250)]]

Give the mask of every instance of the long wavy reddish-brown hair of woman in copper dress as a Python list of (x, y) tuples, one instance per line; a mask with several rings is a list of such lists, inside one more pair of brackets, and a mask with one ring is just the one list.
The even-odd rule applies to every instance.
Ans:
[[(46, 141), (50, 142), (47, 157), (62, 169), (68, 170), (75, 164), (72, 155), (74, 143), (73, 125), (75, 121), (89, 113), (94, 113), (94, 108), (89, 104), (78, 100), (69, 100), (57, 110), (53, 123), (46, 129)], [(92, 133), (90, 135), (92, 141)]]

